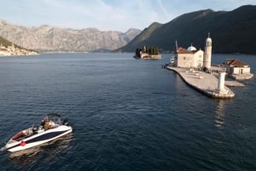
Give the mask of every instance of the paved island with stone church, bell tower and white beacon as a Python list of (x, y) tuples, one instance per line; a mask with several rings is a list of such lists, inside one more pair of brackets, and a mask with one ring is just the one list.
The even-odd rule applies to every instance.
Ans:
[[(244, 87), (237, 81), (225, 81), (226, 75), (235, 80), (247, 80), (253, 78), (250, 66), (241, 60), (226, 59), (221, 65), (212, 64), (212, 38), (210, 33), (205, 43), (205, 51), (194, 46), (189, 48), (177, 48), (170, 63), (163, 66), (166, 69), (177, 72), (183, 81), (192, 88), (216, 99), (234, 98), (234, 92), (228, 87)], [(218, 77), (216, 77), (218, 76)]]

